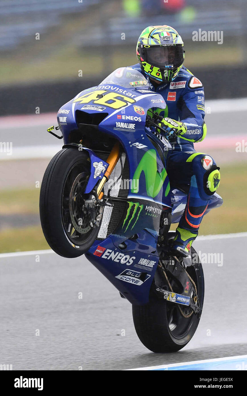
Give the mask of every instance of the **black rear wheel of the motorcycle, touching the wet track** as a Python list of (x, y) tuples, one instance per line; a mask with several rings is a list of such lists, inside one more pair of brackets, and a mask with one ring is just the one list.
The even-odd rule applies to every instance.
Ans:
[[(204, 276), (199, 257), (193, 247), (191, 256), (197, 256), (196, 264), (186, 270), (197, 287), (201, 308), (204, 299)], [(199, 318), (191, 308), (160, 300), (150, 296), (146, 305), (132, 305), (132, 315), (136, 333), (140, 341), (152, 352), (176, 352), (193, 337)]]

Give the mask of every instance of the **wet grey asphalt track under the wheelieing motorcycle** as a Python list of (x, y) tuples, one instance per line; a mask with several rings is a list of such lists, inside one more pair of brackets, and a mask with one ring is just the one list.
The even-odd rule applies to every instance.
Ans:
[(223, 253), (223, 265), (203, 266), (201, 321), (176, 354), (154, 354), (140, 343), (130, 303), (84, 256), (43, 254), (40, 262), (34, 255), (1, 257), (0, 364), (13, 370), (123, 370), (247, 354), (246, 237), (198, 240), (195, 248)]

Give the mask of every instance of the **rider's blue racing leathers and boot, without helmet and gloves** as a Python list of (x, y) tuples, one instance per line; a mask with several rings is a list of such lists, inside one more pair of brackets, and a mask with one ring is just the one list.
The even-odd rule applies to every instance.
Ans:
[[(168, 84), (156, 84), (142, 72), (140, 65), (131, 66), (141, 72), (149, 89), (163, 96), (167, 107), (152, 108), (163, 118), (183, 122), (187, 131), (171, 141), (172, 150), (167, 155), (167, 173), (171, 185), (190, 185), (188, 200), (176, 230), (173, 247), (177, 253), (188, 255), (196, 238), (199, 225), (211, 199), (218, 188), (220, 173), (213, 158), (195, 152), (193, 143), (202, 141), (207, 133), (204, 122), (205, 101), (203, 85), (198, 78), (181, 67), (176, 78)], [(155, 103), (154, 103), (155, 105)]]

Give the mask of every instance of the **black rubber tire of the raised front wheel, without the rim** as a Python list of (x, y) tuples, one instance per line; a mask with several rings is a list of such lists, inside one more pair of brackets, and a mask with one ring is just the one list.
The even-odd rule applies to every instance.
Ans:
[[(50, 161), (40, 188), (40, 221), (44, 236), (52, 250), (68, 258), (84, 254), (97, 238), (100, 228), (91, 228), (88, 224), (83, 228), (84, 234), (80, 234), (73, 228), (73, 224), (68, 229), (66, 227), (65, 211), (67, 211), (67, 223), (71, 221), (67, 197), (80, 173), (85, 175), (86, 185), (86, 179), (90, 175), (90, 160), (87, 152), (75, 148), (64, 148)], [(82, 182), (80, 186), (83, 186)], [(65, 196), (65, 190), (67, 196)], [(84, 189), (82, 190), (84, 192)], [(72, 236), (70, 235), (71, 229), (72, 232), (75, 230)]]

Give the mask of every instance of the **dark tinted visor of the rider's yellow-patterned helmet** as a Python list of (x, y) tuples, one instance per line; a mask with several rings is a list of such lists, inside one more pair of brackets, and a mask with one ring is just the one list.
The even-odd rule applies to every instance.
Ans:
[(150, 46), (140, 48), (141, 57), (150, 65), (162, 69), (177, 69), (184, 62), (184, 47), (182, 44), (167, 46)]

